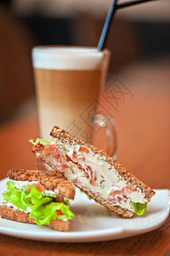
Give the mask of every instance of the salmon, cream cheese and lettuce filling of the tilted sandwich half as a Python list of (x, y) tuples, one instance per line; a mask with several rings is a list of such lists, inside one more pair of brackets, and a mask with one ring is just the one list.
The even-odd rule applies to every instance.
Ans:
[(137, 186), (127, 183), (107, 162), (106, 157), (100, 157), (90, 148), (68, 143), (66, 140), (65, 143), (57, 140), (49, 143), (47, 140), (44, 142), (37, 139), (36, 143), (44, 145), (42, 152), (37, 153), (38, 157), (73, 182), (80, 183), (80, 186), (84, 184), (89, 190), (99, 194), (111, 206), (120, 206), (138, 215), (146, 212), (144, 193)]

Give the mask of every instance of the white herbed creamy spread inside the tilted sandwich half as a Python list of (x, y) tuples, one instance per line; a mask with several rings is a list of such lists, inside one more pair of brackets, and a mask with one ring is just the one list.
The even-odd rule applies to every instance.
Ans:
[[(71, 145), (66, 140), (65, 143), (60, 143), (58, 141), (56, 143), (59, 144), (59, 148), (62, 148), (61, 150), (65, 150), (65, 153), (71, 158), (71, 160), (73, 160), (72, 154), (73, 152), (75, 152), (77, 154), (78, 163), (85, 170), (85, 172), (83, 173), (82, 170), (78, 168), (75, 163), (69, 161), (67, 162), (67, 165), (69, 165), (70, 168), (66, 168), (65, 170), (63, 170), (66, 177), (69, 177), (72, 180), (77, 179), (77, 181), (80, 181), (89, 190), (101, 195), (105, 200), (109, 200), (110, 203), (112, 203), (113, 205), (127, 208), (133, 212), (134, 209), (131, 205), (131, 201), (140, 203), (145, 202), (144, 194), (139, 188), (134, 188), (135, 190), (126, 190), (126, 187), (130, 187), (130, 185), (127, 184), (127, 182), (123, 180), (122, 177), (120, 177), (120, 175), (113, 166), (105, 161), (105, 158), (101, 158), (98, 154), (94, 154), (89, 148), (87, 148), (89, 151), (88, 153), (79, 152), (78, 150), (81, 147), (86, 147), (80, 146), (77, 143)], [(84, 158), (82, 156), (84, 156)], [(54, 156), (52, 154), (50, 154), (49, 156), (45, 156), (45, 160), (48, 160), (50, 164), (55, 166), (56, 160), (54, 159)], [(91, 168), (93, 175), (91, 172), (87, 171), (87, 166)], [(95, 179), (94, 184), (89, 183), (89, 178)], [(121, 194), (122, 189), (124, 189), (124, 194)], [(115, 190), (120, 191), (120, 193), (118, 192), (117, 195), (114, 195), (114, 200), (111, 201), (110, 194)]]

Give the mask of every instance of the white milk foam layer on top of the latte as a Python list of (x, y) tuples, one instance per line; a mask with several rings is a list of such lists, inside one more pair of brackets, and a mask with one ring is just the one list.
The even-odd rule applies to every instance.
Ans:
[(78, 47), (37, 47), (32, 49), (33, 67), (59, 70), (101, 69), (107, 50)]

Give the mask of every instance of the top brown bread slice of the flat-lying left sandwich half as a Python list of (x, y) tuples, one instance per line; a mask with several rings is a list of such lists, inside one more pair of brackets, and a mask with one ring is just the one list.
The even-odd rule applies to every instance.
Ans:
[(37, 171), (25, 169), (9, 169), (7, 177), (17, 181), (37, 181), (44, 189), (59, 190), (56, 201), (65, 202), (64, 197), (74, 200), (75, 187), (71, 180), (66, 179), (61, 174), (54, 171)]

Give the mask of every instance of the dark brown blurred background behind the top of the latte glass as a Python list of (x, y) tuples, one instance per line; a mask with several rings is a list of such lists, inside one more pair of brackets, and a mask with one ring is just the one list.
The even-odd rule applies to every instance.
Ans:
[[(119, 3), (126, 1), (119, 1)], [(38, 44), (97, 46), (110, 0), (0, 2), (0, 123), (35, 108), (31, 49)], [(144, 61), (170, 62), (170, 1), (116, 13), (105, 43), (109, 73)]]

